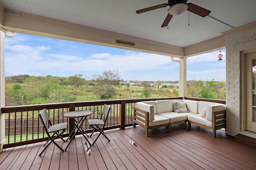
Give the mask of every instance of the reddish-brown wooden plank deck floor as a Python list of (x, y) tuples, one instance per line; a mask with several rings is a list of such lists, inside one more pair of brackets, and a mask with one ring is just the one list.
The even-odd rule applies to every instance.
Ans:
[[(38, 156), (44, 143), (9, 148), (0, 154), (0, 169), (256, 169), (256, 148), (234, 141), (222, 129), (217, 138), (212, 131), (193, 125), (190, 131), (182, 125), (172, 126), (170, 133), (164, 130), (151, 129), (150, 137), (139, 126), (109, 130), (110, 142), (101, 136), (88, 151), (81, 136), (76, 136), (66, 152), (51, 144)], [(65, 146), (67, 142), (62, 143)]]

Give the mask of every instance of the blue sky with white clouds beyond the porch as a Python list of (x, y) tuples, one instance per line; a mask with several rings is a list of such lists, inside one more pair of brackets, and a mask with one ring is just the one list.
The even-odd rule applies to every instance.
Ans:
[[(226, 81), (226, 51), (187, 59), (187, 80)], [(178, 59), (178, 58), (174, 58)], [(104, 70), (118, 70), (122, 80), (179, 80), (179, 64), (163, 55), (16, 33), (5, 39), (5, 76), (68, 77), (83, 74), (87, 80)]]

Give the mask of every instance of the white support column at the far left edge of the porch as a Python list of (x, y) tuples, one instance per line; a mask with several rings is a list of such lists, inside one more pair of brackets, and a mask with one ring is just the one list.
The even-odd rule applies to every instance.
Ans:
[[(0, 108), (5, 106), (5, 83), (4, 83), (4, 39), (6, 31), (0, 29)], [(0, 111), (0, 152), (3, 151), (5, 140), (5, 120), (2, 110)]]

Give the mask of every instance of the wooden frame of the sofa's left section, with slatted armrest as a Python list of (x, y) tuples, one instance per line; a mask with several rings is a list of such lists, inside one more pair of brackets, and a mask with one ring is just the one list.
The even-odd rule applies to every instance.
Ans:
[(166, 124), (156, 125), (156, 126), (148, 126), (149, 125), (149, 121), (148, 121), (149, 112), (148, 111), (134, 107), (133, 113), (134, 113), (133, 127), (136, 127), (136, 125), (140, 125), (141, 127), (143, 127), (146, 130), (146, 137), (148, 137), (148, 129), (154, 129), (154, 128), (158, 128), (158, 127), (166, 127), (166, 131), (170, 132), (172, 125), (177, 125), (177, 124), (181, 124), (181, 123), (183, 123), (183, 128), (186, 128), (186, 120), (178, 121), (178, 122), (174, 122), (174, 123), (166, 123)]

